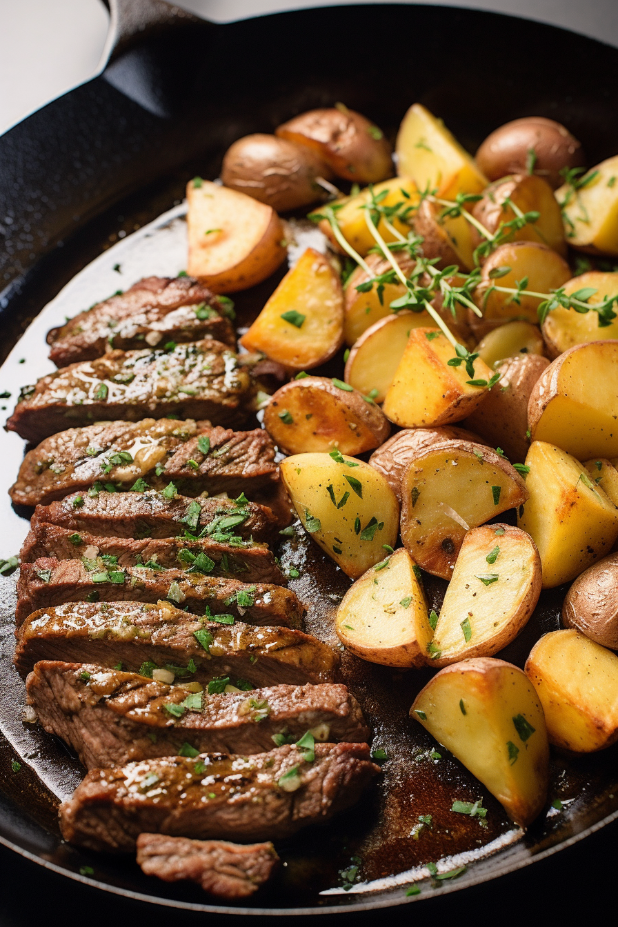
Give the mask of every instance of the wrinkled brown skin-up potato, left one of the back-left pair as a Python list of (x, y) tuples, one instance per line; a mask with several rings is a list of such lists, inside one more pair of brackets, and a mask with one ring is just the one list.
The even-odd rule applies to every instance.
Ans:
[(234, 142), (221, 166), (225, 186), (259, 199), (277, 212), (296, 210), (321, 199), (324, 191), (315, 179), (332, 176), (328, 165), (311, 148), (262, 133)]

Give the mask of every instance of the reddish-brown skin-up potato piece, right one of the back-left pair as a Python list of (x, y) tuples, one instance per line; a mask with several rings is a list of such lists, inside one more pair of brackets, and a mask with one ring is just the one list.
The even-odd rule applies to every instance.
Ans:
[(311, 148), (345, 180), (377, 184), (393, 172), (392, 148), (385, 134), (343, 103), (301, 113), (275, 129), (275, 135)]

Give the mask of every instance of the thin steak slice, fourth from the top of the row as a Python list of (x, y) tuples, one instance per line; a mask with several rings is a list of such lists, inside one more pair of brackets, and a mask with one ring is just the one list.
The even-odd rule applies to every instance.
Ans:
[[(195, 503), (199, 506), (199, 511)], [(244, 517), (238, 517), (243, 514)], [(233, 515), (233, 525), (221, 521)], [(160, 492), (99, 492), (96, 496), (71, 493), (49, 505), (37, 505), (32, 515), (32, 531), (43, 523), (57, 525), (97, 537), (158, 539), (182, 536), (187, 527), (201, 533), (213, 527), (209, 537), (233, 531), (243, 540), (271, 540), (278, 523), (270, 508), (256, 502), (241, 507), (228, 499), (168, 499)], [(216, 524), (213, 526), (213, 522)]]

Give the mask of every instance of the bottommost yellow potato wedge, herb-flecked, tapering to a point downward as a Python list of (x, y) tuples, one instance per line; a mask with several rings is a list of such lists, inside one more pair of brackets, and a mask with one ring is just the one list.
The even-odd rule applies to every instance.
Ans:
[(441, 669), (410, 708), (438, 743), (483, 782), (516, 824), (545, 805), (549, 743), (536, 690), (521, 669), (476, 657)]

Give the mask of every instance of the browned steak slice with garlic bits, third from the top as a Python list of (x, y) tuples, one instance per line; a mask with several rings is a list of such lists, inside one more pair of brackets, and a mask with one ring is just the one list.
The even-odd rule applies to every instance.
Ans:
[[(179, 455), (192, 438), (189, 454)], [(206, 452), (198, 450), (200, 444)], [(234, 432), (192, 419), (100, 423), (42, 441), (24, 457), (9, 492), (18, 505), (53, 502), (86, 489), (93, 495), (166, 489), (164, 498), (173, 498), (174, 490), (189, 496), (253, 494), (277, 484), (274, 456), (271, 437), (261, 428)]]

